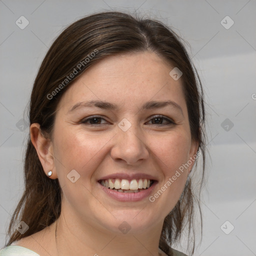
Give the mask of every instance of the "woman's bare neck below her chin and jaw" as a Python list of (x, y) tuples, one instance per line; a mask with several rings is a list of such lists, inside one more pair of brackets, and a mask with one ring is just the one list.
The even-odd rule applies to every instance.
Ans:
[[(56, 221), (56, 255), (158, 256), (161, 223), (140, 233), (113, 233), (61, 211)], [(55, 231), (55, 229), (54, 229)]]

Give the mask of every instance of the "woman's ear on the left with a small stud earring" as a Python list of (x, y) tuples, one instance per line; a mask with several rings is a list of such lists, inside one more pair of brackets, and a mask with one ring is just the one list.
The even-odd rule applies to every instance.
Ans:
[(30, 139), (37, 152), (45, 174), (47, 175), (51, 170), (52, 174), (49, 178), (57, 178), (56, 171), (54, 170), (55, 164), (52, 142), (50, 138), (47, 138), (42, 134), (39, 123), (32, 123), (30, 125)]

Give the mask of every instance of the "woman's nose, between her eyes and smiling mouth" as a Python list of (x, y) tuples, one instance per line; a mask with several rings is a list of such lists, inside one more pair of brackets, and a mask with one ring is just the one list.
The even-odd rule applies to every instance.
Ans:
[(136, 125), (131, 125), (126, 131), (117, 127), (117, 134), (114, 137), (115, 141), (110, 154), (115, 161), (135, 165), (149, 157), (145, 138)]

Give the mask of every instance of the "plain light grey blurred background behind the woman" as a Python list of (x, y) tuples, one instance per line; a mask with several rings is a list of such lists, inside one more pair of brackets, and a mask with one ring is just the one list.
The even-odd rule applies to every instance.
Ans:
[[(201, 77), (211, 159), (195, 255), (256, 255), (255, 0), (0, 0), (0, 247), (23, 192), (29, 129), (22, 118), (42, 58), (64, 26), (109, 9), (136, 10), (174, 27)], [(24, 29), (15, 24), (21, 15), (29, 21)], [(229, 29), (220, 23), (226, 15), (234, 21)], [(229, 234), (220, 228), (226, 220), (234, 226)]]

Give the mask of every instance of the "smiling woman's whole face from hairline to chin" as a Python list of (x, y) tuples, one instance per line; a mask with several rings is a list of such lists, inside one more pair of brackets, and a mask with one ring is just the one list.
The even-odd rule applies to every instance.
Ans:
[[(117, 232), (162, 225), (197, 149), (182, 76), (174, 80), (172, 68), (147, 51), (111, 56), (87, 69), (62, 95), (52, 136), (61, 213)], [(163, 101), (169, 103), (157, 103)], [(141, 188), (147, 180), (154, 182)]]

